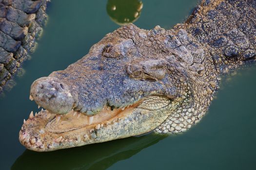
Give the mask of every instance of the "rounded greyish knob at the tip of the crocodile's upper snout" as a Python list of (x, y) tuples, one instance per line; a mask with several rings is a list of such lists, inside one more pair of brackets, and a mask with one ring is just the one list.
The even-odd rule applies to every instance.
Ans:
[(30, 89), (35, 102), (55, 114), (66, 114), (78, 103), (78, 94), (68, 83), (55, 77), (37, 79)]

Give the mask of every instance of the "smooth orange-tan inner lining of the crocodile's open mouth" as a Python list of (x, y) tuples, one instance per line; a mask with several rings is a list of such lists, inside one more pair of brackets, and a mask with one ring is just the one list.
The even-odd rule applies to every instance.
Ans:
[(123, 108), (112, 108), (111, 106), (105, 106), (95, 116), (86, 116), (72, 110), (65, 115), (56, 115), (53, 119), (51, 119), (51, 121), (46, 124), (45, 129), (55, 134), (73, 131), (80, 128), (87, 128), (91, 131), (93, 129), (98, 130), (104, 125), (109, 125), (110, 123), (118, 121), (118, 119), (121, 119), (131, 114), (131, 112), (135, 108), (137, 108), (139, 103), (141, 103), (141, 101)]

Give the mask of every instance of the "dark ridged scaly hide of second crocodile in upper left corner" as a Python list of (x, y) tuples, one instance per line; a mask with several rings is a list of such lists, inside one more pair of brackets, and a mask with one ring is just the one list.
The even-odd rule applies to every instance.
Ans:
[(0, 92), (37, 46), (48, 0), (0, 0)]

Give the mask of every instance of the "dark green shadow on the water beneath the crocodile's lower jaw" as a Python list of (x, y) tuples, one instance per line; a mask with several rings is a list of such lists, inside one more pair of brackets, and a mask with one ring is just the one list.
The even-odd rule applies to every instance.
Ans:
[(48, 153), (25, 150), (11, 170), (105, 170), (165, 137), (149, 134)]

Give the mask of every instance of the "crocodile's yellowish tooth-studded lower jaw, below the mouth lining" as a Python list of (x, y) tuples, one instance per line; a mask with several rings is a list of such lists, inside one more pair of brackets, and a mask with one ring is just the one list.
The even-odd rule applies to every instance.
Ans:
[(163, 104), (164, 106), (158, 110), (147, 110), (146, 103), (142, 102), (125, 109), (125, 113), (108, 121), (88, 124), (65, 132), (50, 132), (47, 124), (56, 116), (47, 110), (41, 110), (35, 116), (30, 115), (24, 122), (19, 139), (26, 148), (44, 152), (137, 136), (154, 130), (167, 119), (168, 114), (163, 114), (162, 111), (171, 110), (175, 105), (169, 99)]

